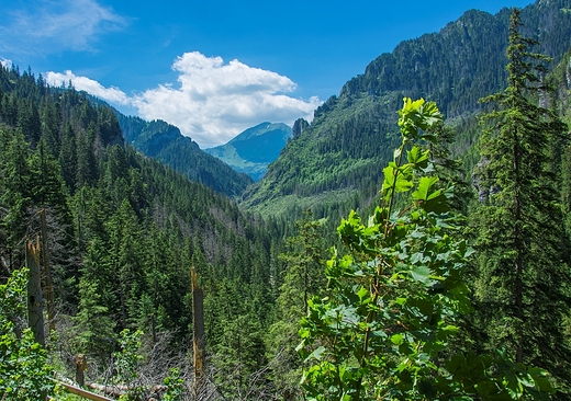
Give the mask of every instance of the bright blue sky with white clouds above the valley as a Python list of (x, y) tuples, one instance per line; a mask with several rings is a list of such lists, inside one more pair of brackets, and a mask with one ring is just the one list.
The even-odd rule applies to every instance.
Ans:
[(71, 79), (204, 148), (265, 121), (311, 119), (380, 54), (466, 10), (530, 2), (2, 1), (0, 60), (52, 84)]

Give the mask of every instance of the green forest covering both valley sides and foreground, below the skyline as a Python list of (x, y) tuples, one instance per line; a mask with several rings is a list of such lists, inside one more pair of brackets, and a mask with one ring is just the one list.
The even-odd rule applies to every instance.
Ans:
[(255, 184), (1, 67), (0, 399), (571, 399), (570, 10), (402, 43)]

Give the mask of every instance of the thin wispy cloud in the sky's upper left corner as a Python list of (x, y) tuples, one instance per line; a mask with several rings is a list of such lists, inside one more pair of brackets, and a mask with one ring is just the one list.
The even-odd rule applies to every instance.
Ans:
[(98, 35), (122, 28), (126, 21), (94, 0), (41, 0), (24, 9), (5, 10), (0, 50), (33, 54), (42, 50), (92, 49)]

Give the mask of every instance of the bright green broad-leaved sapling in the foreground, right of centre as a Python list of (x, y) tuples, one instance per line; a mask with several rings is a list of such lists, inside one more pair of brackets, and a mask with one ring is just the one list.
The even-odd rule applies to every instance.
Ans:
[[(300, 332), (310, 399), (547, 399), (551, 391), (545, 371), (502, 354), (448, 354), (459, 317), (471, 311), (462, 275), (473, 250), (458, 239), (462, 218), (422, 147), (437, 140), (426, 129), (439, 119), (434, 103), (405, 99), (382, 205), (367, 222), (351, 211), (338, 228), (349, 253), (334, 250), (329, 295), (310, 300)], [(406, 194), (398, 209), (395, 197)]]

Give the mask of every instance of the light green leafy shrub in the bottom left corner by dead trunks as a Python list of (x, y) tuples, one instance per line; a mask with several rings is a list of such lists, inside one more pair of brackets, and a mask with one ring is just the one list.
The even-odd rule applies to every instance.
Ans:
[(0, 397), (7, 400), (41, 400), (54, 388), (45, 350), (20, 326), (26, 283), (27, 270), (21, 268), (0, 285)]

